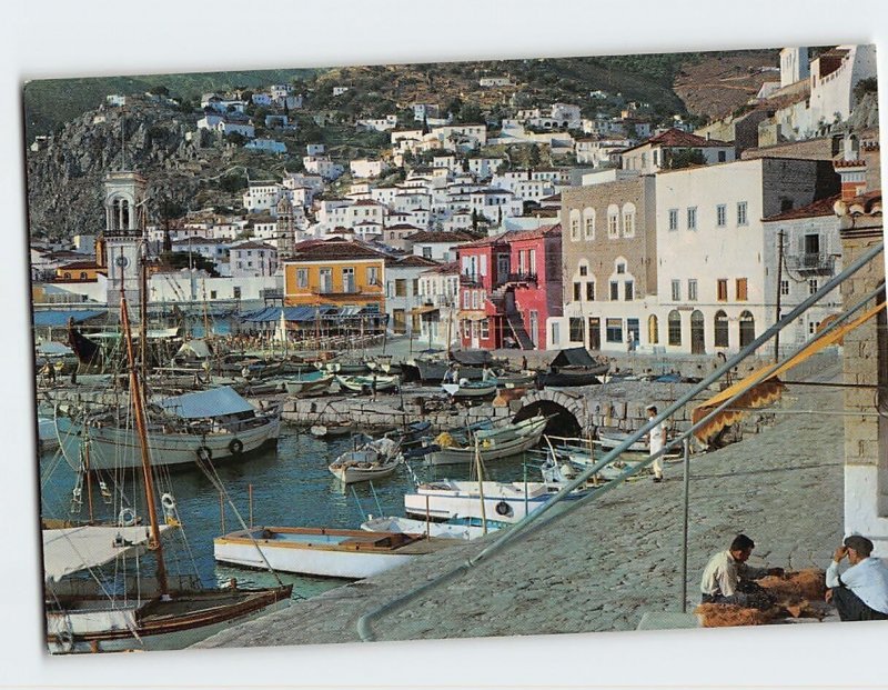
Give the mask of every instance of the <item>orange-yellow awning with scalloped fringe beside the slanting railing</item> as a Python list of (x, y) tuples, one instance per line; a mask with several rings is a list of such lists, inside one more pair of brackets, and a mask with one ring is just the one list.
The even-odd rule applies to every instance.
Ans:
[(766, 372), (771, 369), (773, 364), (756, 369), (746, 378), (737, 381), (733, 386), (729, 386), (725, 390), (709, 398), (706, 402), (694, 408), (690, 413), (690, 420), (696, 424), (715, 408), (739, 393), (734, 402), (706, 422), (703, 427), (697, 429), (694, 432), (694, 436), (696, 436), (700, 441), (708, 442), (709, 439), (722, 431), (722, 429), (729, 427), (741, 419), (743, 416), (746, 414), (747, 409), (764, 408), (778, 400), (784, 388), (786, 388), (786, 386), (778, 379), (780, 374), (789, 371), (794, 367), (797, 367), (817, 352), (820, 352), (833, 344), (841, 342), (841, 339), (846, 334), (861, 323), (871, 319), (881, 309), (885, 309), (885, 302), (871, 307), (862, 316), (858, 317), (850, 323), (846, 323), (841, 328), (837, 328), (829, 334), (817, 340), (813, 340), (807, 347), (805, 347), (794, 357), (786, 360), (771, 373), (766, 374)]

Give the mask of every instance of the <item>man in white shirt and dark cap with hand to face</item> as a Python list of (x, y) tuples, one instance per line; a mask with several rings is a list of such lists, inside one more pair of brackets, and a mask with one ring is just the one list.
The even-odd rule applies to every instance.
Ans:
[[(826, 600), (844, 621), (888, 620), (888, 567), (874, 558), (872, 542), (860, 534), (847, 537), (826, 571)], [(839, 574), (845, 558), (851, 564)]]

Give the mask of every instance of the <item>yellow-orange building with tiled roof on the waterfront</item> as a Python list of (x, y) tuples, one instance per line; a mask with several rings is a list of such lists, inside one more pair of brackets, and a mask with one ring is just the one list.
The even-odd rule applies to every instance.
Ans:
[(284, 266), (284, 304), (329, 304), (385, 311), (385, 254), (363, 242), (309, 240)]

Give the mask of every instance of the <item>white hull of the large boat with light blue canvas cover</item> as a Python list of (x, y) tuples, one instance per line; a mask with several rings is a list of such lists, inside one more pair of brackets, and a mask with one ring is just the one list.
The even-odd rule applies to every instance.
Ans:
[[(83, 428), (68, 418), (57, 420), (59, 441), (68, 463), (78, 469)], [(186, 466), (199, 459), (198, 451), (209, 449), (211, 460), (242, 456), (278, 438), (279, 419), (270, 418), (264, 423), (242, 429), (236, 433), (220, 432), (205, 436), (188, 433), (161, 433), (149, 431), (152, 466)], [(115, 427), (90, 427), (90, 469), (114, 470), (142, 466), (139, 439), (134, 430)]]

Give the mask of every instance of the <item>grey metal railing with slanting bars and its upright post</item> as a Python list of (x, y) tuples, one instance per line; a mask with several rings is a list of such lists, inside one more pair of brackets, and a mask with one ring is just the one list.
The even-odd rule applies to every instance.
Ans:
[[(532, 533), (536, 529), (542, 528), (543, 526), (547, 526), (551, 522), (563, 518), (564, 516), (573, 512), (581, 506), (586, 506), (587, 503), (595, 501), (601, 496), (607, 493), (608, 491), (614, 490), (616, 487), (620, 486), (625, 482), (628, 478), (633, 477), (634, 474), (640, 472), (643, 469), (649, 467), (657, 458), (665, 454), (668, 450), (672, 450), (679, 443), (684, 447), (685, 451), (685, 539), (684, 539), (684, 549), (683, 549), (683, 558), (684, 563), (682, 568), (682, 610), (686, 610), (687, 606), (687, 517), (688, 517), (688, 478), (689, 478), (689, 464), (688, 464), (688, 448), (689, 448), (689, 439), (690, 436), (697, 429), (702, 428), (704, 424), (708, 423), (712, 419), (714, 419), (718, 413), (723, 410), (728, 408), (734, 401), (744, 394), (747, 390), (753, 388), (754, 386), (758, 384), (759, 382), (769, 378), (774, 372), (776, 372), (785, 361), (777, 362), (764, 370), (759, 370), (755, 377), (750, 377), (750, 380), (747, 381), (747, 384), (738, 390), (734, 396), (728, 398), (727, 400), (719, 403), (709, 413), (707, 413), (703, 419), (695, 422), (689, 429), (687, 429), (684, 433), (678, 436), (677, 438), (668, 441), (664, 444), (664, 448), (649, 456), (645, 460), (629, 464), (615, 480), (605, 483), (604, 486), (593, 490), (587, 496), (583, 497), (582, 499), (569, 501), (562, 506), (562, 501), (564, 498), (574, 489), (586, 483), (594, 474), (599, 472), (603, 468), (607, 467), (615, 460), (619, 458), (622, 453), (627, 451), (629, 447), (635, 443), (636, 441), (640, 440), (650, 430), (656, 427), (657, 424), (664, 423), (669, 421), (673, 416), (682, 410), (687, 403), (689, 403), (696, 396), (704, 393), (709, 386), (718, 381), (719, 379), (728, 376), (731, 373), (735, 367), (737, 367), (740, 362), (743, 362), (748, 357), (756, 353), (756, 351), (761, 348), (768, 340), (770, 340), (774, 336), (776, 336), (779, 331), (784, 330), (787, 326), (791, 326), (795, 323), (796, 319), (798, 319), (803, 313), (805, 313), (810, 307), (816, 304), (827, 294), (829, 294), (833, 290), (835, 290), (839, 284), (845, 282), (848, 278), (857, 273), (862, 267), (868, 264), (870, 261), (876, 259), (884, 249), (884, 243), (878, 242), (870, 247), (866, 252), (864, 252), (860, 257), (858, 257), (852, 263), (850, 263), (841, 273), (831, 278), (829, 281), (826, 282), (819, 290), (817, 290), (814, 294), (809, 296), (805, 301), (803, 301), (798, 307), (793, 309), (786, 316), (784, 316), (777, 323), (768, 328), (764, 333), (761, 333), (758, 338), (753, 340), (753, 342), (748, 343), (746, 347), (741, 348), (740, 351), (730, 357), (722, 367), (715, 370), (709, 376), (705, 377), (699, 383), (694, 386), (690, 390), (685, 392), (684, 394), (679, 396), (678, 399), (666, 407), (659, 414), (657, 414), (654, 419), (648, 420), (645, 424), (643, 424), (638, 430), (627, 436), (627, 438), (616, 448), (607, 452), (598, 462), (594, 463), (592, 467), (585, 469), (584, 471), (579, 472), (579, 474), (573, 479), (572, 481), (567, 482), (559, 491), (556, 493), (551, 500), (546, 501), (542, 508), (535, 510), (534, 512), (529, 513), (525, 518), (521, 519), (518, 522), (513, 524), (507, 530), (503, 530), (487, 547), (482, 549), (478, 553), (473, 556), (472, 558), (467, 559), (460, 566), (443, 572), (440, 576), (427, 580), (423, 584), (396, 597), (395, 599), (377, 607), (376, 609), (364, 613), (361, 618), (357, 619), (357, 633), (361, 639), (365, 642), (373, 641), (376, 639), (375, 632), (373, 630), (372, 623), (379, 620), (381, 617), (392, 613), (396, 610), (402, 609), (408, 602), (415, 600), (421, 594), (433, 590), (435, 588), (442, 587), (443, 584), (465, 574), (472, 568), (477, 566), (480, 562), (488, 560), (496, 556), (500, 551), (502, 551), (507, 544), (513, 541), (519, 540), (525, 538), (527, 534)], [(862, 300), (860, 300), (857, 304), (852, 306), (851, 308), (847, 309), (839, 318), (835, 321), (829, 323), (829, 326), (817, 333), (814, 340), (818, 340), (820, 338), (825, 338), (827, 334), (831, 333), (834, 330), (840, 328), (848, 321), (854, 314), (858, 311), (864, 309), (866, 304), (868, 304), (871, 300), (878, 299), (879, 297), (884, 296), (885, 291), (885, 282), (882, 281), (875, 290), (868, 293)], [(882, 297), (884, 299), (884, 297)], [(794, 356), (810, 344), (811, 341), (808, 341), (796, 350)], [(561, 508), (557, 514), (549, 514), (552, 509), (558, 506)], [(548, 514), (548, 519), (542, 520), (544, 516)]]

